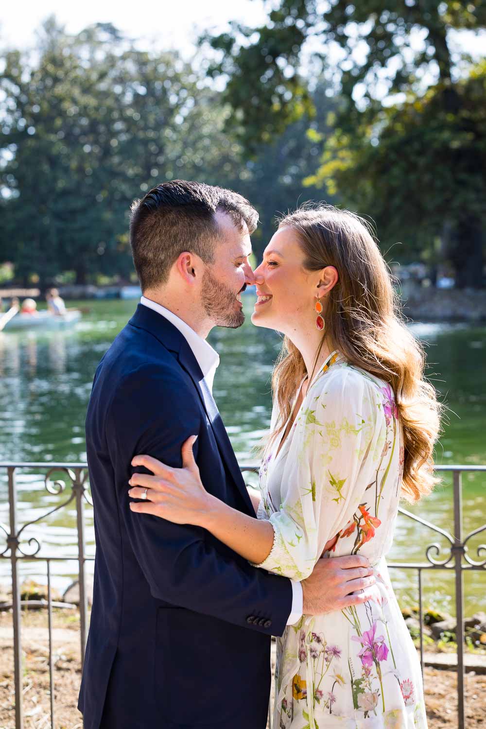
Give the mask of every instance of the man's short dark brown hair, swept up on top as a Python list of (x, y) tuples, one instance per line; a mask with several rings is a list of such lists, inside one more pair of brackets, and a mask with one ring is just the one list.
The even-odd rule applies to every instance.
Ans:
[(218, 211), (230, 215), (241, 233), (253, 233), (258, 224), (258, 213), (246, 198), (202, 182), (162, 182), (135, 200), (130, 246), (142, 291), (165, 283), (184, 251), (213, 262), (214, 246), (223, 235), (215, 217)]

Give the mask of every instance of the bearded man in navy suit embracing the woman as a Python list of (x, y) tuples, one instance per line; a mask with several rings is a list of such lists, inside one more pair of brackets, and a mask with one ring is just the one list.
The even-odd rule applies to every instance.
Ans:
[(205, 338), (243, 324), (257, 219), (240, 195), (197, 182), (160, 184), (133, 206), (144, 296), (98, 367), (86, 421), (96, 537), (86, 729), (264, 729), (270, 636), (373, 581), (364, 558), (321, 560), (302, 589), (203, 529), (130, 510), (133, 456), (181, 467), (181, 444), (197, 434), (205, 488), (255, 515), (211, 394), (219, 357)]

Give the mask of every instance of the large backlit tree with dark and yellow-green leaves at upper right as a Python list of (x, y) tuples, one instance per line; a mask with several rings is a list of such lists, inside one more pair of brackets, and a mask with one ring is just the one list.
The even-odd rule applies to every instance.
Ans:
[[(383, 0), (359, 4), (338, 0), (323, 6), (318, 0), (281, 0), (270, 12), (266, 26), (255, 29), (233, 24), (232, 32), (210, 40), (214, 49), (223, 51), (222, 60), (213, 63), (211, 73), (228, 77), (224, 96), (235, 108), (243, 144), (253, 152), (273, 129), (281, 130), (305, 112), (313, 114), (299, 62), (305, 43), (315, 44), (318, 39), (317, 55), (326, 61), (340, 105), (334, 120), (337, 133), (324, 144), (324, 167), (317, 176), (310, 176), (310, 182), (330, 177), (335, 190), (352, 203), (369, 202), (372, 195), (367, 191), (371, 190), (375, 198), (380, 190), (383, 203), (383, 184), (386, 203), (397, 209), (402, 191), (410, 187), (410, 178), (404, 175), (416, 168), (423, 170), (426, 162), (433, 161), (436, 166), (427, 169), (424, 183), (415, 188), (415, 198), (428, 197), (425, 180), (431, 175), (447, 180), (449, 187), (441, 197), (438, 185), (427, 208), (413, 207), (407, 231), (417, 241), (423, 238), (424, 230), (428, 235), (442, 235), (447, 209), (449, 254), (457, 268), (458, 284), (479, 286), (485, 167), (478, 174), (477, 154), (478, 149), (481, 154), (484, 139), (485, 100), (475, 95), (476, 71), (471, 83), (464, 81), (464, 76), (471, 74), (472, 59), (466, 53), (458, 57), (451, 50), (450, 33), (479, 31), (485, 25), (485, 3), (399, 0), (392, 5)], [(419, 38), (422, 44), (418, 44)], [(332, 61), (336, 48), (340, 60)], [(478, 113), (471, 113), (473, 101), (479, 103)], [(415, 105), (421, 112), (413, 117)], [(414, 133), (417, 117), (426, 121), (428, 133), (421, 133), (420, 122)], [(435, 143), (436, 134), (439, 144)], [(396, 149), (407, 145), (407, 160), (393, 170), (384, 169), (385, 157), (378, 147), (385, 143), (385, 153), (393, 140)], [(452, 166), (451, 170), (458, 157), (459, 169)], [(365, 159), (375, 161), (369, 174), (366, 165), (359, 166)], [(356, 163), (361, 174), (353, 168)], [(413, 184), (416, 182), (414, 176)], [(447, 200), (459, 199), (460, 206), (447, 206)], [(375, 216), (374, 206), (367, 212)], [(394, 225), (391, 220), (390, 238), (401, 238), (401, 232), (399, 223)], [(386, 245), (390, 242), (388, 239)]]

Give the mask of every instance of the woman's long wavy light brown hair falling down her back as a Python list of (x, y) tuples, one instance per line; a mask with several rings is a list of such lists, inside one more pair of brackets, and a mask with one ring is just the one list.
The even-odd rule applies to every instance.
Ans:
[[(337, 269), (339, 281), (326, 299), (324, 338), (350, 364), (391, 385), (404, 433), (401, 493), (417, 501), (436, 483), (433, 453), (441, 406), (434, 387), (424, 378), (423, 348), (401, 321), (391, 273), (372, 227), (349, 211), (309, 203), (283, 217), (278, 227), (294, 230), (306, 270), (328, 265)], [(302, 354), (285, 337), (273, 370), (280, 417), (270, 434), (272, 440), (289, 419), (291, 402), (306, 373)]]

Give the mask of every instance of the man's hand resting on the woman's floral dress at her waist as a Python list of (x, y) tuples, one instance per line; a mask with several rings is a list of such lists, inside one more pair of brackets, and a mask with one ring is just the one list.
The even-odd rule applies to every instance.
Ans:
[[(321, 558), (313, 573), (302, 580), (304, 615), (325, 615), (369, 600), (367, 588), (375, 585), (369, 561), (360, 555)], [(356, 595), (356, 590), (365, 590)]]

